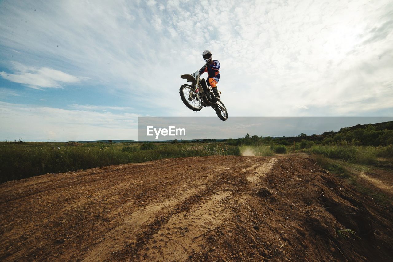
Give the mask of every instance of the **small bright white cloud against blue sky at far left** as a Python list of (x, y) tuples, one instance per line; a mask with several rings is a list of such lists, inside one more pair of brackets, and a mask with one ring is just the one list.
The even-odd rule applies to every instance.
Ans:
[(15, 74), (0, 72), (0, 76), (9, 81), (24, 84), (35, 89), (47, 87), (62, 87), (64, 84), (75, 84), (83, 77), (72, 76), (48, 67), (28, 67), (20, 63), (13, 63)]

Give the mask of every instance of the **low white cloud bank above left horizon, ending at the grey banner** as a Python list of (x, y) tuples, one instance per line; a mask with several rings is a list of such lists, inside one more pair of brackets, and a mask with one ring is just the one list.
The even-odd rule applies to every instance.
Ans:
[[(137, 116), (0, 102), (0, 140), (26, 141), (134, 139)], [(29, 127), (28, 129), (26, 127)]]

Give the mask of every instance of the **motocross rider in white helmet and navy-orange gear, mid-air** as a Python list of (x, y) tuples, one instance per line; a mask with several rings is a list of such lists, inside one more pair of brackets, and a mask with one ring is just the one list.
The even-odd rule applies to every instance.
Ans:
[(211, 56), (211, 52), (209, 50), (205, 50), (202, 52), (202, 57), (206, 62), (200, 70), (197, 70), (192, 76), (200, 76), (205, 72), (208, 72), (208, 79), (206, 79), (206, 83), (208, 86), (211, 86), (213, 89), (213, 93), (215, 96), (215, 101), (220, 100), (219, 91), (217, 90), (217, 83), (220, 80), (220, 62), (217, 60), (213, 60)]

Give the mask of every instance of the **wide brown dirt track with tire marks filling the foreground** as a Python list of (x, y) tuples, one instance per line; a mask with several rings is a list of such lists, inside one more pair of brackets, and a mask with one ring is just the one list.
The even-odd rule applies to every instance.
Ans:
[(36, 176), (1, 184), (0, 192), (0, 260), (6, 261), (388, 261), (393, 255), (392, 210), (305, 158), (164, 159)]

